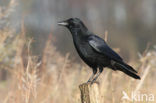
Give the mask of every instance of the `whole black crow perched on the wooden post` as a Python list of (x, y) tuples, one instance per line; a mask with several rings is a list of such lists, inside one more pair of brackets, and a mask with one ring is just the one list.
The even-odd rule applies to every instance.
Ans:
[(88, 82), (93, 83), (102, 73), (104, 67), (120, 70), (135, 79), (140, 79), (137, 71), (126, 64), (102, 38), (90, 32), (80, 19), (70, 18), (58, 22), (58, 25), (69, 29), (79, 56), (92, 68), (93, 74)]

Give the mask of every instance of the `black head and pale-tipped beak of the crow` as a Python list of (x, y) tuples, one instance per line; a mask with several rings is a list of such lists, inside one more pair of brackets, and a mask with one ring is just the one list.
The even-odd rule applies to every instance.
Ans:
[(69, 30), (75, 30), (75, 29), (87, 29), (83, 22), (78, 18), (70, 18), (61, 22), (58, 22), (58, 25), (65, 26)]

